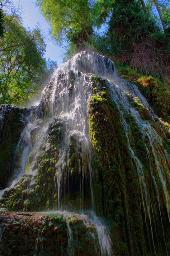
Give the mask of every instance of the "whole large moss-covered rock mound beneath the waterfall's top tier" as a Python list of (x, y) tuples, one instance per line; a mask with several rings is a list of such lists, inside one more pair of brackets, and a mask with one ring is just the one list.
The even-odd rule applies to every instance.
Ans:
[[(133, 76), (135, 79), (137, 75)], [(144, 82), (147, 86), (153, 83), (151, 78), (140, 81)], [(152, 94), (153, 105), (154, 86), (148, 94)], [(58, 74), (44, 90), (39, 107), (32, 108), (32, 152), (22, 179), (5, 191), (1, 206), (12, 211), (95, 209), (112, 224), (114, 255), (166, 255), (169, 124), (153, 115), (147, 104), (130, 91), (140, 97), (129, 83), (118, 88), (96, 75), (74, 71)], [(19, 234), (20, 226), (26, 228), (23, 223), (29, 223), (35, 231), (35, 248), (30, 238), (31, 253), (100, 255), (98, 245), (94, 251), (93, 227), (90, 232), (94, 239), (90, 241), (91, 234), (79, 217), (57, 217), (59, 226), (53, 216), (42, 217), (41, 227), (35, 219), (35, 223), (32, 219), (13, 220)], [(63, 233), (54, 236), (59, 241), (55, 242), (51, 234), (60, 230), (60, 224)], [(22, 235), (27, 238), (26, 232)], [(14, 241), (15, 237), (16, 233)], [(42, 251), (42, 244), (47, 252)], [(22, 252), (27, 255), (27, 251)]]

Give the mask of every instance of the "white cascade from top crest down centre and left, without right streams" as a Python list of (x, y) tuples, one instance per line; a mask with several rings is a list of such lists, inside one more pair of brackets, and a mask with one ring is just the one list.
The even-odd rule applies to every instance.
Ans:
[[(70, 144), (72, 140), (76, 142), (76, 151), (79, 156), (79, 174), (80, 174), (80, 192), (83, 195), (87, 194), (87, 182), (90, 183), (91, 194), (91, 208), (94, 209), (94, 199), (92, 190), (92, 169), (91, 169), (91, 145), (89, 138), (89, 126), (88, 126), (88, 102), (92, 95), (91, 82), (88, 76), (81, 74), (80, 71), (89, 73), (90, 66), (93, 67), (92, 73), (99, 74), (103, 70), (103, 75), (112, 75), (114, 73), (114, 65), (107, 58), (103, 58), (99, 55), (93, 54), (93, 57), (89, 54), (87, 59), (83, 56), (84, 53), (77, 55), (71, 62), (63, 64), (62, 68), (56, 71), (56, 77), (53, 79), (53, 88), (51, 89), (50, 104), (49, 104), (49, 117), (42, 125), (42, 120), (39, 119), (37, 113), (34, 113), (33, 121), (29, 122), (25, 127), (20, 141), (23, 138), (28, 138), (23, 146), (23, 153), (20, 157), (22, 163), (20, 170), (18, 171), (18, 177), (21, 178), (25, 172), (27, 165), (27, 173), (25, 175), (31, 175), (34, 177), (37, 172), (37, 159), (41, 152), (43, 145), (46, 145), (46, 134), (49, 124), (54, 117), (65, 124), (65, 136), (63, 140), (63, 146), (60, 148), (60, 158), (56, 163), (56, 180), (57, 180), (57, 194), (58, 194), (58, 208), (61, 206), (62, 190), (63, 190), (63, 173), (68, 172), (67, 163), (70, 158)], [(81, 57), (80, 57), (81, 56)], [(89, 62), (90, 61), (90, 62)], [(72, 63), (72, 64), (71, 64)], [(71, 65), (71, 66), (70, 66)], [(74, 70), (70, 72), (70, 70)], [(63, 74), (64, 73), (64, 74)], [(71, 78), (71, 79), (70, 79)], [(74, 82), (74, 84), (72, 83)], [(44, 95), (46, 94), (44, 90)], [(45, 109), (46, 111), (46, 109)], [(27, 136), (29, 134), (29, 136)], [(34, 139), (36, 134), (36, 140)], [(20, 148), (20, 141), (18, 143), (16, 152)], [(30, 164), (27, 164), (29, 155), (33, 159)], [(67, 170), (66, 170), (67, 168)], [(88, 173), (87, 173), (88, 172)], [(16, 173), (16, 170), (14, 171)], [(23, 177), (24, 177), (23, 176)], [(33, 179), (33, 178), (32, 178)], [(12, 183), (14, 186), (19, 180), (15, 180)], [(68, 188), (69, 190), (69, 188)], [(99, 244), (101, 249), (101, 255), (111, 255), (111, 240), (109, 234), (99, 219), (93, 215), (92, 222), (96, 227), (96, 232), (99, 238)], [(67, 222), (68, 223), (68, 222)], [(69, 254), (74, 255), (71, 249), (71, 229), (68, 225), (68, 241), (69, 241)], [(37, 238), (36, 245), (39, 246), (39, 238)], [(40, 241), (41, 242), (41, 241)], [(106, 248), (105, 248), (106, 247)], [(38, 249), (37, 249), (38, 250)]]

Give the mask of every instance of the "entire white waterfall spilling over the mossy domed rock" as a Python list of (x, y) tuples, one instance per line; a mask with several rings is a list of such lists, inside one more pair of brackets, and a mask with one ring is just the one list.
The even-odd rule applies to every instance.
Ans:
[[(93, 177), (96, 174), (92, 166), (93, 149), (88, 114), (89, 101), (94, 94), (95, 76), (104, 78), (109, 97), (121, 116), (132, 166), (137, 170), (141, 214), (144, 214), (143, 220), (150, 251), (156, 255), (154, 234), (157, 231), (153, 223), (156, 223), (157, 219), (161, 222), (161, 232), (166, 247), (162, 201), (170, 218), (167, 190), (169, 155), (161, 136), (151, 126), (150, 121), (155, 120), (157, 116), (146, 99), (135, 85), (118, 78), (112, 61), (97, 53), (89, 51), (77, 53), (57, 68), (55, 77), (43, 90), (41, 102), (38, 106), (31, 107), (26, 115), (27, 125), (21, 132), (15, 148), (8, 183), (0, 191), (0, 195), (8, 199), (10, 193), (15, 193), (18, 188), (19, 192), (22, 191), (22, 199), (20, 205), (19, 201), (15, 202), (14, 206), (17, 206), (17, 209), (39, 210), (41, 207), (42, 209), (46, 207), (47, 210), (49, 208), (60, 210), (63, 214), (64, 210), (77, 211), (84, 225), (88, 227), (89, 223), (93, 223), (95, 227), (91, 237), (92, 239), (98, 237), (100, 252), (96, 247), (97, 255), (113, 255), (113, 243), (108, 228), (95, 213), (97, 202), (94, 199)], [(97, 86), (100, 90), (100, 85)], [(140, 110), (134, 106), (134, 102), (145, 109), (150, 121), (143, 118)], [(145, 161), (133, 145), (134, 135), (127, 120), (129, 116), (140, 133), (143, 150), (146, 153)], [(0, 118), (2, 130), (5, 122), (4, 108), (1, 110)], [(156, 195), (159, 217), (154, 214), (157, 206), (150, 199), (148, 177), (151, 177), (150, 182), (154, 187), (153, 194)], [(13, 188), (12, 192), (10, 192), (11, 188)], [(162, 194), (163, 199), (160, 200)], [(17, 199), (17, 196), (15, 198)], [(66, 214), (64, 219), (67, 223), (67, 253), (74, 255), (75, 238), (70, 226), (71, 217)], [(126, 222), (128, 226), (128, 216)], [(36, 238), (35, 251), (35, 255), (43, 254), (43, 238), (39, 234)]]

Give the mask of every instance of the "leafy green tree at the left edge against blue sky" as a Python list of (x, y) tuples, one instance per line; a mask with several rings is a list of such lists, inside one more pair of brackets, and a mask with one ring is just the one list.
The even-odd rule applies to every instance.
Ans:
[(21, 104), (43, 87), (56, 66), (43, 57), (46, 45), (39, 28), (25, 29), (17, 9), (4, 14), (5, 36), (0, 39), (0, 104)]

